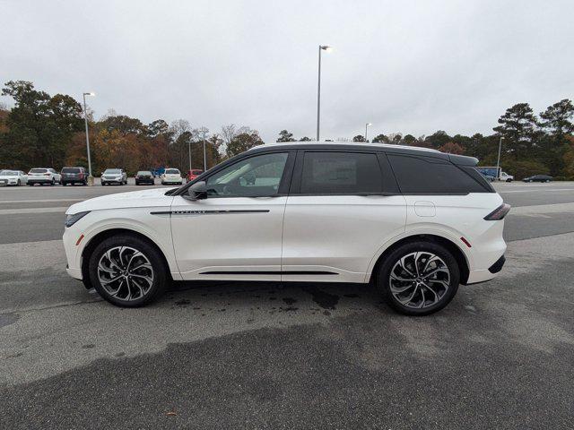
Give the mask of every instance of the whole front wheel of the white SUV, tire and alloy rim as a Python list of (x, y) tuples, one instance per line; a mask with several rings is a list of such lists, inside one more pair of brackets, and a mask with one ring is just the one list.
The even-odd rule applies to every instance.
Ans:
[(100, 296), (124, 307), (147, 305), (161, 296), (167, 276), (161, 254), (135, 236), (112, 236), (90, 256), (90, 280)]

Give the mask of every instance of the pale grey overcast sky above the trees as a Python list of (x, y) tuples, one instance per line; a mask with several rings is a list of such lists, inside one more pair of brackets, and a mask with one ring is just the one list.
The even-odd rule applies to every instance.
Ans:
[[(274, 142), (492, 133), (574, 90), (574, 1), (0, 0), (0, 79), (144, 123), (235, 123)], [(0, 102), (9, 100), (0, 98)]]

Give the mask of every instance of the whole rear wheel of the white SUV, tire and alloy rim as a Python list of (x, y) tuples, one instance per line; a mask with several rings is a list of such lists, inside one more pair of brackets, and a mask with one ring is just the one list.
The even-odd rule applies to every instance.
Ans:
[(432, 242), (399, 246), (378, 272), (378, 286), (387, 303), (407, 315), (438, 312), (457, 294), (459, 280), (455, 257)]

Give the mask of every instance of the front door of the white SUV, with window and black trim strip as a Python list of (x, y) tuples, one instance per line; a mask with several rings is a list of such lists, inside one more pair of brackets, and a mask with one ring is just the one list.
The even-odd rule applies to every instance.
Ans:
[(281, 191), (293, 156), (247, 156), (205, 179), (206, 199), (174, 198), (171, 235), (184, 280), (281, 280)]

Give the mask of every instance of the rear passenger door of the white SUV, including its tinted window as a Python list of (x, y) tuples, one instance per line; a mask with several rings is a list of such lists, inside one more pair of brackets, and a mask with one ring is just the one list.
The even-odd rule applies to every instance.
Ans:
[(283, 221), (282, 280), (363, 282), (405, 220), (384, 154), (300, 150)]

